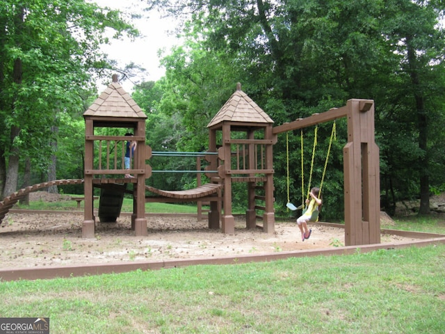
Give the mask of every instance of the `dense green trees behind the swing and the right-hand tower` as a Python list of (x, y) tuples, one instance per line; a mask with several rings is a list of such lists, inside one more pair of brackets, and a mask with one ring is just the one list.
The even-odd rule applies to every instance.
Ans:
[[(181, 115), (186, 132), (178, 147), (207, 143), (201, 131), (227, 101), (230, 80), (241, 81), (277, 125), (343, 106), (350, 98), (370, 98), (384, 209), (444, 184), (443, 3), (165, 0), (153, 6), (186, 18), (186, 45), (163, 58), (170, 91), (159, 104), (162, 112)], [(312, 129), (306, 131), (310, 142)], [(321, 132), (321, 138), (328, 136), (323, 127)], [(323, 186), (323, 210), (332, 218), (340, 218), (343, 209), (346, 125), (339, 126), (338, 137)], [(275, 198), (281, 203), (287, 195), (283, 140), (274, 146)], [(298, 144), (298, 134), (292, 134), (292, 196), (301, 192)], [(321, 177), (324, 145), (314, 177)], [(304, 155), (307, 161), (310, 152)]]

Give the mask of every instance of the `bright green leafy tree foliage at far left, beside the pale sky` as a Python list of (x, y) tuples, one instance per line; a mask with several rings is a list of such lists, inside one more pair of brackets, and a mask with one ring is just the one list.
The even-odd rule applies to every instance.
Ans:
[(83, 0), (2, 1), (0, 181), (8, 191), (17, 186), (9, 181), (17, 177), (19, 159), (29, 157), (35, 173), (47, 169), (54, 129), (67, 129), (70, 117), (76, 123), (84, 111), (81, 97), (91, 95), (95, 80), (111, 67), (99, 50), (108, 42), (106, 29), (115, 37), (138, 34), (119, 12)]

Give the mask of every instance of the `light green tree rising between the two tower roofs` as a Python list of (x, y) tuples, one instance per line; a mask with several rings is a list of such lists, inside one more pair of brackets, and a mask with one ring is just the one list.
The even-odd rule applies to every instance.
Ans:
[(227, 76), (232, 70), (222, 54), (209, 53), (195, 41), (174, 49), (162, 63), (166, 81), (160, 106), (163, 112), (180, 116), (184, 128), (177, 149), (205, 150), (207, 124), (235, 89), (236, 81)]

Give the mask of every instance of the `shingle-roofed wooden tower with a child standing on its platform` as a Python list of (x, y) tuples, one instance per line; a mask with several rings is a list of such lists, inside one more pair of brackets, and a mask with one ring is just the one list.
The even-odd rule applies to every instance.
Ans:
[[(133, 101), (131, 96), (118, 83), (118, 75), (113, 75), (113, 82), (99, 95), (85, 113), (85, 217), (82, 225), (82, 237), (93, 238), (95, 235), (95, 217), (92, 210), (92, 189), (101, 188), (99, 204), (99, 218), (115, 219), (120, 213), (113, 212), (118, 206), (113, 202), (113, 196), (123, 193), (127, 184), (133, 184), (134, 209), (131, 217), (131, 227), (136, 235), (147, 235), (147, 220), (145, 218), (145, 202), (137, 198), (145, 198), (145, 120), (147, 116)], [(103, 136), (95, 134), (97, 128), (122, 128), (117, 136)], [(132, 168), (124, 168), (125, 144), (129, 140), (125, 132), (132, 132), (132, 141), (138, 143), (138, 149), (131, 157)], [(116, 132), (115, 132), (116, 133)], [(122, 178), (122, 175), (135, 175)], [(121, 176), (119, 176), (121, 175)], [(125, 187), (122, 187), (125, 186)], [(104, 191), (108, 189), (108, 203)], [(114, 189), (114, 193), (113, 193)], [(118, 189), (118, 190), (116, 190)], [(101, 209), (103, 214), (101, 215)]]

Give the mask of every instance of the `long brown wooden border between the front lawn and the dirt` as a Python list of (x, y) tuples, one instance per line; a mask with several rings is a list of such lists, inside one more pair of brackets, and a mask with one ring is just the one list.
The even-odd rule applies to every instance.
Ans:
[(354, 253), (369, 253), (378, 249), (407, 248), (411, 246), (423, 247), (434, 244), (445, 244), (445, 237), (419, 240), (403, 241), (389, 244), (373, 244), (362, 246), (344, 246), (338, 248), (319, 248), (314, 250), (294, 250), (280, 253), (268, 253), (263, 255), (239, 255), (227, 257), (204, 257), (199, 259), (184, 260), (156, 260), (150, 262), (126, 262), (108, 264), (86, 264), (72, 267), (40, 267), (0, 269), (0, 282), (11, 280), (37, 280), (51, 278), (70, 278), (77, 276), (102, 275), (106, 273), (124, 273), (135, 270), (158, 270), (178, 267), (188, 267), (203, 264), (241, 264), (248, 262), (269, 262), (284, 260), (289, 257), (304, 257), (318, 255), (350, 255)]

